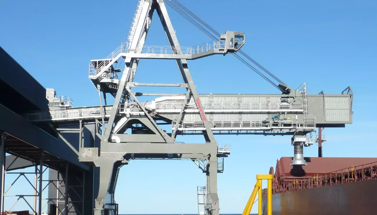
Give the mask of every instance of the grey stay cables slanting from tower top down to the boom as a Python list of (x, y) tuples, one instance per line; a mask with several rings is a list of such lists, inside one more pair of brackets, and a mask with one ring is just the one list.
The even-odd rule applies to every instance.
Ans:
[[(187, 9), (185, 6), (183, 6), (181, 3), (179, 3), (177, 0), (169, 0), (169, 1), (166, 1), (167, 5), (169, 5), (170, 7), (172, 7), (175, 11), (177, 11), (180, 15), (182, 15), (185, 19), (189, 20), (189, 22), (191, 22), (193, 25), (195, 25), (197, 28), (199, 28), (201, 31), (203, 31), (205, 34), (207, 34), (207, 36), (210, 36), (211, 39), (214, 39), (214, 40), (217, 40), (218, 37), (220, 37), (220, 34), (219, 32), (217, 32), (215, 29), (213, 29), (211, 26), (209, 26), (207, 23), (205, 23), (202, 19), (200, 19), (198, 16), (196, 16), (193, 12), (191, 12), (189, 9)], [(209, 32), (207, 29), (205, 29), (202, 25), (200, 25), (198, 22), (195, 22), (195, 20), (190, 17), (188, 14), (190, 14), (192, 17), (194, 17), (198, 22), (200, 22), (202, 25), (204, 25), (206, 28), (208, 28), (210, 31), (213, 32), (213, 34), (215, 34), (216, 36), (214, 36), (213, 34), (211, 34), (211, 32)], [(266, 68), (264, 68), (262, 65), (260, 65), (258, 62), (256, 62), (256, 60), (252, 59), (250, 56), (248, 56), (244, 51), (240, 50), (239, 53), (241, 53), (244, 57), (246, 57), (248, 60), (250, 60), (251, 62), (253, 62), (257, 67), (261, 68), (265, 73), (269, 74), (271, 77), (273, 77), (273, 79), (275, 79), (276, 81), (278, 81), (279, 83), (282, 83), (284, 84), (284, 82), (282, 82), (282, 80), (280, 80), (279, 78), (277, 78), (276, 76), (274, 76), (274, 74), (272, 74), (270, 71), (268, 71)], [(240, 56), (236, 56), (239, 60), (242, 59), (242, 57)], [(246, 61), (244, 59), (241, 60), (241, 62), (245, 63)], [(246, 63), (245, 63), (246, 64)], [(246, 64), (247, 65), (247, 64)], [(248, 64), (247, 66), (250, 66), (250, 64)], [(271, 84), (273, 84), (273, 82), (268, 79), (266, 76), (262, 75), (259, 71), (257, 71), (254, 67), (253, 67), (253, 70), (258, 73), (259, 75), (261, 75), (262, 77), (264, 77), (264, 79), (268, 80)], [(275, 87), (277, 87), (276, 84), (273, 84)], [(279, 88), (278, 88), (279, 89)]]

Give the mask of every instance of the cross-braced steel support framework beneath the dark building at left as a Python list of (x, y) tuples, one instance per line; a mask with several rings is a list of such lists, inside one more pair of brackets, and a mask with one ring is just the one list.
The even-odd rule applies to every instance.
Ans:
[[(1, 210), (2, 211), (12, 211), (14, 206), (17, 206), (19, 201), (25, 201), (25, 203), (29, 206), (29, 210), (32, 211), (33, 214), (41, 214), (43, 210), (46, 208), (47, 205), (51, 207), (51, 205), (55, 206), (55, 209), (49, 209), (51, 214), (53, 215), (68, 215), (69, 213), (76, 213), (78, 215), (84, 214), (84, 193), (85, 193), (85, 172), (83, 172), (82, 178), (78, 177), (76, 173), (73, 173), (75, 177), (70, 178), (77, 178), (72, 181), (68, 180), (68, 167), (69, 165), (66, 164), (65, 171), (63, 173), (59, 172), (58, 170), (51, 169), (49, 167), (44, 166), (45, 159), (49, 159), (43, 152), (40, 153), (40, 159), (38, 162), (35, 162), (29, 159), (28, 163), (25, 168), (34, 167), (34, 171), (30, 172), (30, 170), (26, 170), (25, 168), (19, 167), (18, 165), (16, 170), (13, 169), (13, 164), (17, 162), (17, 159), (26, 158), (19, 158), (14, 156), (14, 159), (11, 162), (5, 162), (5, 150), (4, 150), (4, 142), (5, 142), (5, 133), (0, 132), (0, 159), (2, 163), (2, 174), (1, 174)], [(8, 159), (7, 159), (8, 161)], [(49, 180), (43, 179), (43, 174), (46, 170), (49, 169), (49, 174), (57, 174), (57, 180)], [(5, 179), (6, 175), (14, 175), (16, 177), (14, 181), (11, 183), (9, 187), (5, 187)], [(30, 176), (34, 175), (34, 182), (30, 179)], [(30, 184), (30, 187), (34, 190), (32, 193), (24, 191), (22, 193), (14, 194), (12, 192), (12, 187), (15, 183), (19, 183), (19, 181), (23, 180), (23, 183)], [(66, 186), (68, 184), (68, 186)], [(56, 189), (57, 196), (55, 198), (45, 198), (43, 197), (43, 192), (49, 189), (51, 190)], [(4, 207), (4, 199), (5, 198), (16, 198), (12, 205), (8, 208)], [(30, 200), (32, 198), (32, 202)], [(82, 207), (76, 207), (77, 203), (82, 203)]]

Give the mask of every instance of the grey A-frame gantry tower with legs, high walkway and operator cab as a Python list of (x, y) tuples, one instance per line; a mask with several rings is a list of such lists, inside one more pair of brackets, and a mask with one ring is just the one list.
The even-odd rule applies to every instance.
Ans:
[[(152, 16), (157, 12), (166, 33), (170, 46), (144, 46), (150, 27)], [(204, 113), (204, 107), (196, 91), (191, 77), (187, 60), (198, 59), (213, 54), (235, 53), (243, 45), (243, 33), (227, 31), (219, 40), (201, 46), (181, 47), (176, 37), (163, 0), (139, 0), (130, 28), (128, 41), (122, 43), (106, 59), (92, 60), (89, 66), (89, 78), (98, 89), (100, 101), (103, 92), (115, 97), (111, 106), (101, 107), (102, 115), (110, 114), (108, 120), (102, 118), (97, 121), (102, 133), (99, 148), (81, 148), (80, 161), (88, 162), (99, 167), (100, 184), (98, 196), (95, 200), (95, 215), (112, 214), (117, 210), (114, 192), (119, 168), (127, 164), (132, 158), (179, 158), (193, 161), (207, 161), (203, 171), (207, 176), (206, 213), (219, 214), (219, 199), (217, 195), (218, 157), (228, 156), (228, 152), (219, 150), (211, 126)], [(123, 60), (124, 70), (114, 67)], [(172, 59), (175, 60), (183, 83), (179, 84), (143, 84), (133, 82), (140, 59)], [(121, 74), (121, 75), (120, 75)], [(174, 117), (156, 114), (153, 109), (143, 105), (131, 88), (133, 86), (182, 87), (186, 94), (155, 94), (143, 95), (165, 96), (166, 100), (175, 101), (179, 105), (180, 113)], [(179, 97), (179, 99), (178, 99)], [(182, 97), (183, 103), (182, 103)], [(189, 104), (190, 107), (189, 107)], [(106, 102), (105, 102), (106, 105)], [(101, 102), (102, 106), (102, 102)], [(178, 144), (175, 143), (178, 125), (185, 117), (185, 110), (193, 108), (193, 113), (200, 118), (205, 128), (203, 135), (205, 143)], [(105, 113), (106, 112), (106, 113)], [(194, 116), (195, 117), (195, 116)], [(156, 121), (172, 124), (172, 133), (159, 128)], [(105, 124), (107, 127), (105, 128)], [(99, 129), (100, 130), (100, 129)], [(131, 130), (131, 131), (130, 131)], [(130, 132), (126, 132), (130, 131)]]

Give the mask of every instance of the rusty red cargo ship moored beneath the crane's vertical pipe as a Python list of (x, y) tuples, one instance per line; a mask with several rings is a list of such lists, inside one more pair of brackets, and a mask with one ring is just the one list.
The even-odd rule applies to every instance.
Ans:
[[(309, 160), (311, 162), (302, 168), (303, 172), (298, 171), (299, 175), (294, 175), (297, 172), (288, 166), (291, 158), (278, 160), (275, 172), (271, 167), (270, 174), (274, 174), (273, 215), (377, 214), (377, 158)], [(362, 162), (365, 163), (360, 164)], [(325, 163), (327, 165), (321, 168)], [(342, 164), (345, 164), (343, 169), (338, 169)], [(317, 173), (331, 168), (330, 172)], [(267, 196), (264, 195), (264, 209), (266, 205)], [(267, 214), (267, 210), (263, 210), (263, 214)]]

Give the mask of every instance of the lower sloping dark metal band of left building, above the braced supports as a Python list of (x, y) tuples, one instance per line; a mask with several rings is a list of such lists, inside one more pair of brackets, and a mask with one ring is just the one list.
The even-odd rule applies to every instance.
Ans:
[(78, 167), (89, 169), (89, 167), (78, 161), (78, 156), (62, 140), (41, 130), (26, 119), (18, 116), (8, 108), (0, 104), (0, 130), (15, 136), (35, 147), (41, 148), (58, 158), (69, 161)]

